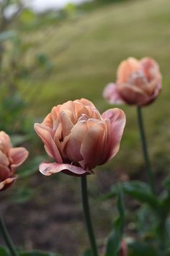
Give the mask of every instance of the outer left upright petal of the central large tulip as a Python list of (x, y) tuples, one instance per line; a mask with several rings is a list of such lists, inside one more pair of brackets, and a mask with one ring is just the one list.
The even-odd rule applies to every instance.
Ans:
[(61, 154), (50, 135), (50, 130), (48, 127), (45, 127), (42, 124), (35, 124), (35, 132), (37, 132), (37, 135), (39, 135), (42, 142), (44, 142), (45, 150), (50, 157), (55, 158), (58, 163), (63, 163)]

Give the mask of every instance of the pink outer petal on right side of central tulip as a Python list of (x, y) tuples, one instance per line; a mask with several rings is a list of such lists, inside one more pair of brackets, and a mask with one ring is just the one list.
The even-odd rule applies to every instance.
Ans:
[(102, 114), (102, 118), (110, 120), (110, 135), (109, 135), (109, 146), (107, 159), (113, 158), (120, 148), (120, 140), (122, 138), (122, 133), (125, 128), (126, 117), (125, 113), (119, 108), (112, 108), (105, 111)]

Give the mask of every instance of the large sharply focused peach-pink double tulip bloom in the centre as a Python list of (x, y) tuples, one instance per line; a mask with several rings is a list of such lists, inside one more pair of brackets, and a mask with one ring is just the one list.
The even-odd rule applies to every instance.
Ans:
[(105, 111), (102, 116), (91, 101), (68, 101), (52, 108), (35, 131), (54, 163), (41, 163), (40, 172), (50, 175), (91, 174), (95, 166), (113, 158), (120, 148), (125, 127), (125, 114), (118, 108)]

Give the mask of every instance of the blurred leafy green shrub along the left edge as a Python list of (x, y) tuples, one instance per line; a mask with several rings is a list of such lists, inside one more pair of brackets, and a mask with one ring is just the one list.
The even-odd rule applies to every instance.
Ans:
[[(10, 9), (13, 11), (8, 14)], [(37, 72), (37, 79), (42, 79), (53, 69), (53, 63), (43, 51), (31, 54), (31, 60), (28, 58), (37, 46), (31, 38), (25, 40), (24, 35), (34, 29), (36, 22), (37, 15), (27, 9), (23, 1), (0, 1), (0, 130), (11, 136), (14, 146), (24, 145), (31, 151), (32, 158), (20, 168), (22, 182), (11, 197), (17, 203), (26, 202), (34, 195), (34, 189), (28, 187), (28, 179), (37, 172), (42, 161), (41, 155), (35, 156), (39, 148), (33, 129), (35, 116), (29, 114), (34, 86), (24, 85), (24, 82), (31, 79), (33, 72)], [(19, 90), (21, 83), (24, 85), (22, 92)]]

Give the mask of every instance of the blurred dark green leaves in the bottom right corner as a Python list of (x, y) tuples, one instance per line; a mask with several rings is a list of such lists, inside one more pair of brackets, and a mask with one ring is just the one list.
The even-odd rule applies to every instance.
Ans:
[(136, 218), (132, 219), (135, 232), (138, 234), (138, 242), (135, 242), (133, 247), (132, 244), (130, 245), (132, 249), (130, 255), (140, 256), (140, 252), (144, 253), (148, 248), (150, 256), (167, 255), (170, 239), (170, 230), (167, 225), (170, 215), (170, 193), (169, 188), (166, 190), (168, 182), (165, 181), (164, 184), (164, 191), (161, 195), (154, 195), (148, 184), (139, 181), (123, 182), (113, 186), (111, 191), (102, 197), (102, 200), (115, 197), (118, 195), (117, 188), (121, 186), (125, 195), (140, 202), (141, 206), (135, 213)]

